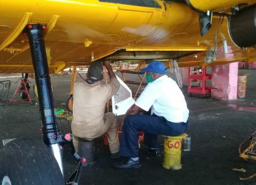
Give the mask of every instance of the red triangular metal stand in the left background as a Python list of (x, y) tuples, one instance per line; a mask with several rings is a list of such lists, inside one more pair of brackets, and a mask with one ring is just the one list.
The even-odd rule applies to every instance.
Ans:
[[(30, 96), (30, 94), (29, 94), (29, 90), (28, 90), (28, 88), (26, 88), (27, 80), (28, 80), (28, 79), (21, 78), (21, 82), (20, 82), (20, 84), (18, 85), (16, 91), (14, 92), (14, 95), (13, 95), (13, 97), (11, 98), (11, 100), (8, 101), (8, 104), (12, 104), (12, 103), (16, 103), (16, 102), (32, 103), (31, 96)], [(25, 89), (21, 89), (22, 85), (23, 85), (23, 87), (24, 87)], [(16, 96), (19, 92), (25, 92), (27, 98), (26, 98), (26, 99), (14, 100), (15, 96)]]

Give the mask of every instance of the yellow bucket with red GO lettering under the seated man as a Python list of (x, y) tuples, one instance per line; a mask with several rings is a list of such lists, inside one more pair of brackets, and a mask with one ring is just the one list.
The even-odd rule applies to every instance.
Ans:
[(182, 138), (187, 134), (178, 136), (164, 136), (163, 168), (168, 170), (180, 170)]

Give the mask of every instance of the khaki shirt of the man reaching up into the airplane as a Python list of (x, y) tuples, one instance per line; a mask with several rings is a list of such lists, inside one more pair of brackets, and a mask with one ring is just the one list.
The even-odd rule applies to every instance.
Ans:
[(81, 138), (95, 138), (104, 124), (106, 102), (117, 92), (120, 84), (112, 78), (109, 84), (88, 84), (77, 81), (74, 87), (72, 132)]

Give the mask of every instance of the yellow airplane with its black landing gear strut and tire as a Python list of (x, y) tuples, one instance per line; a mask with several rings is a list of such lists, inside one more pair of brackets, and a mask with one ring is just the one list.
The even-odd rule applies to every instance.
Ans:
[[(256, 0), (0, 0), (0, 73), (35, 73), (43, 140), (55, 157), (45, 145), (14, 140), (4, 147), (0, 183), (63, 184), (60, 144), (70, 136), (56, 125), (49, 73), (98, 60), (254, 62), (255, 12)], [(85, 159), (77, 159), (67, 184), (79, 180)]]

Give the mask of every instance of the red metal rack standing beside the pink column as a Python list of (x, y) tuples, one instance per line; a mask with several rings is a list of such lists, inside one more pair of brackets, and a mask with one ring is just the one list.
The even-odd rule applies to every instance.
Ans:
[[(206, 73), (206, 67), (202, 67), (202, 72), (191, 73), (191, 67), (188, 69), (188, 93), (195, 94), (211, 94), (212, 87), (206, 87), (206, 80), (212, 79), (212, 74)], [(200, 87), (191, 87), (191, 80), (202, 81), (202, 86)]]

